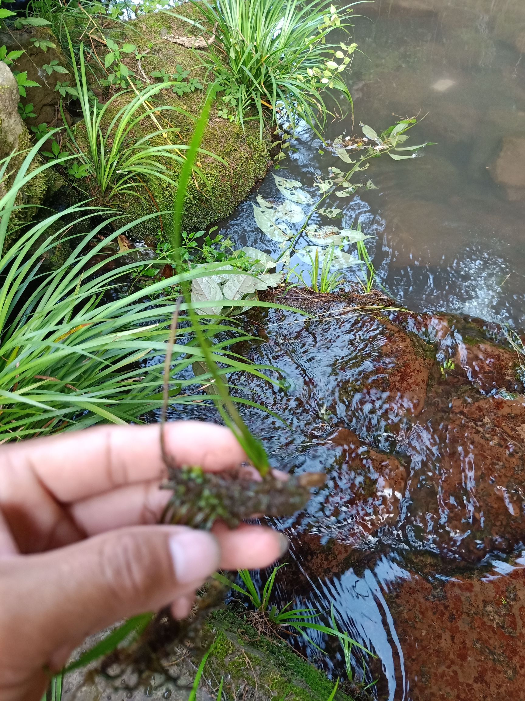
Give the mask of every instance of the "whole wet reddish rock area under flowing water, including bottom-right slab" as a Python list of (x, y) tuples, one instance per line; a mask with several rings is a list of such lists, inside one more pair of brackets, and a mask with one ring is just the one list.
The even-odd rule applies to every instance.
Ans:
[[(248, 418), (275, 465), (328, 475), (281, 522), (279, 602), (332, 611), (373, 651), (353, 662), (378, 700), (521, 698), (524, 562), (505, 557), (525, 540), (525, 397), (505, 330), (381, 292), (266, 299), (307, 316), (253, 315), (243, 351), (283, 385), (250, 380), (251, 399), (288, 426)], [(326, 657), (297, 645), (344, 669), (330, 639)]]

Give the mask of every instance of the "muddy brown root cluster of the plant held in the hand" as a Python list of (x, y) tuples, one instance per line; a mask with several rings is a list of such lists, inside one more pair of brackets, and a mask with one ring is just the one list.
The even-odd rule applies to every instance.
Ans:
[[(162, 488), (172, 490), (172, 497), (162, 522), (206, 530), (217, 520), (235, 528), (255, 514), (292, 515), (307, 504), (311, 489), (325, 482), (325, 475), (318, 472), (290, 477), (277, 477), (269, 472), (255, 480), (242, 476), (246, 470), (236, 475), (203, 472), (200, 468), (168, 469), (169, 479)], [(139, 639), (106, 655), (86, 681), (98, 676), (113, 688), (134, 690), (150, 683), (151, 677), (158, 674), (163, 683), (176, 683), (177, 677), (168, 669), (176, 648), (202, 651), (202, 624), (211, 611), (223, 606), (227, 593), (228, 587), (210, 580), (185, 620), (175, 620), (169, 608), (160, 611)]]

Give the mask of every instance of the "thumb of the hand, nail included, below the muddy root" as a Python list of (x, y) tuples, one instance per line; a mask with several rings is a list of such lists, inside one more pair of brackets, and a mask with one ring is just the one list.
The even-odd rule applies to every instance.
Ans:
[(220, 559), (214, 536), (184, 526), (136, 526), (1, 559), (0, 673), (21, 660), (28, 679), (43, 665), (62, 666), (116, 620), (193, 597)]

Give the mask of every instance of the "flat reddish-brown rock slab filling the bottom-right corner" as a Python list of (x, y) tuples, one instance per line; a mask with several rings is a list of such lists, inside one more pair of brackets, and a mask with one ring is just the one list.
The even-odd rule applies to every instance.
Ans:
[(433, 583), (413, 575), (386, 594), (409, 699), (503, 701), (523, 697), (524, 570), (489, 580)]

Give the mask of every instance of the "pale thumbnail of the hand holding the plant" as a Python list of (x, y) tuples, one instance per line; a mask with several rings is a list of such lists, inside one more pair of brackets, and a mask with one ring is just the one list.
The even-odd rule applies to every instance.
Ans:
[(177, 582), (203, 582), (218, 569), (221, 551), (211, 533), (179, 531), (169, 538), (173, 569)]

